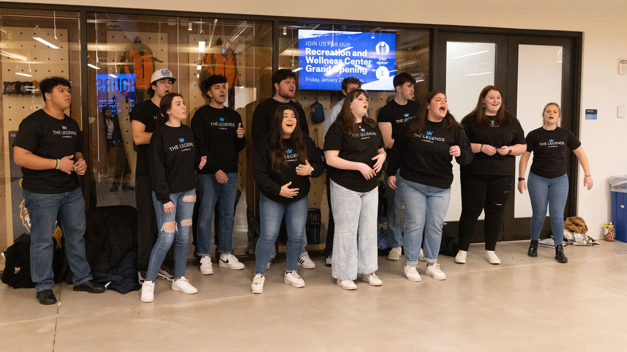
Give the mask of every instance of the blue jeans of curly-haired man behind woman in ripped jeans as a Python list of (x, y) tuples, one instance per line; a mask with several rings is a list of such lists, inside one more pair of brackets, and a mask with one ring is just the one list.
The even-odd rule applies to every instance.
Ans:
[[(198, 190), (200, 206), (198, 209), (198, 255), (211, 254), (211, 219), (218, 204), (218, 251), (229, 254), (233, 251), (233, 217), (235, 215), (235, 197), (237, 195), (237, 173), (227, 173), (229, 182), (220, 184), (215, 174), (199, 174)], [(217, 255), (217, 254), (216, 254)]]

